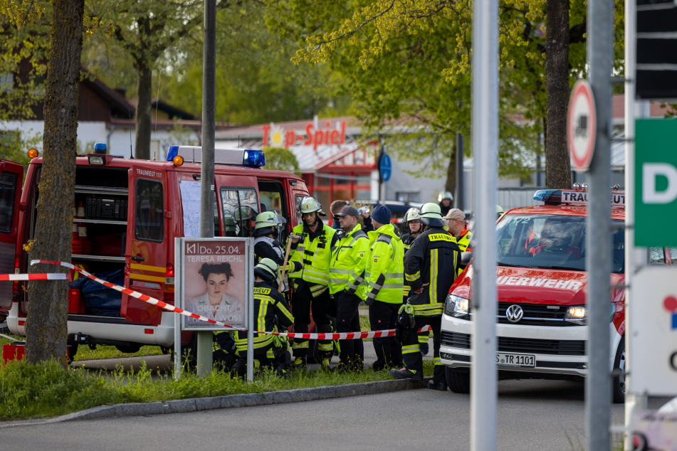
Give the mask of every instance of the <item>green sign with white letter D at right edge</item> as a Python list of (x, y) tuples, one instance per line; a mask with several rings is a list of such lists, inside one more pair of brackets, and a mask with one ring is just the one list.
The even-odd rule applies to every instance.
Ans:
[(635, 245), (677, 246), (677, 119), (635, 121)]

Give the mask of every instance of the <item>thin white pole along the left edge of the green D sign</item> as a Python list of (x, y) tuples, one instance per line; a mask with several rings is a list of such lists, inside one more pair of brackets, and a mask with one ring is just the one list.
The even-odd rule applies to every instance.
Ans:
[[(631, 193), (635, 192), (635, 117), (639, 109), (635, 100), (635, 77), (636, 77), (636, 33), (637, 11), (636, 0), (625, 0), (625, 329), (630, 330), (632, 318), (632, 304), (629, 286), (634, 275), (642, 267), (642, 261), (646, 260), (646, 253), (641, 248), (634, 247), (635, 239), (635, 207)], [(646, 395), (632, 393), (632, 375), (630, 370), (632, 355), (628, 352), (632, 336), (625, 336), (625, 450), (632, 451), (630, 425), (632, 416), (636, 410), (647, 408)]]

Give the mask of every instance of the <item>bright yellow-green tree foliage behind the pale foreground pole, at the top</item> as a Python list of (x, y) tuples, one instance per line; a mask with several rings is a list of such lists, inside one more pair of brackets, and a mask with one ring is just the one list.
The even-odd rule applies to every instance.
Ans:
[[(303, 43), (295, 60), (329, 63), (345, 78), (345, 89), (368, 125), (382, 129), (397, 121), (408, 122), (409, 129), (426, 126), (419, 133), (431, 135), (429, 146), (406, 146), (411, 136), (402, 135), (402, 147), (411, 159), (439, 159), (442, 152), (449, 161), (451, 135), (460, 130), (469, 136), (470, 0), (352, 0), (322, 8), (311, 0), (283, 0), (268, 5), (269, 26)], [(570, 29), (579, 35), (570, 40), (573, 81), (584, 73), (584, 1), (573, 0), (570, 12)], [(622, 9), (619, 14), (622, 17)], [(544, 23), (545, 0), (500, 1), (503, 176), (522, 176), (528, 171), (525, 165), (541, 152), (537, 137), (546, 107)], [(617, 26), (621, 31), (622, 21)]]

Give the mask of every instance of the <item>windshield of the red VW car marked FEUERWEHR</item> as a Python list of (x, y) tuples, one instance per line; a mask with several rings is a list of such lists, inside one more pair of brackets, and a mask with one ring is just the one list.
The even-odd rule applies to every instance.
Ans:
[[(496, 229), (499, 266), (585, 270), (584, 216), (507, 215)], [(624, 272), (622, 228), (613, 235), (612, 255), (612, 272)]]

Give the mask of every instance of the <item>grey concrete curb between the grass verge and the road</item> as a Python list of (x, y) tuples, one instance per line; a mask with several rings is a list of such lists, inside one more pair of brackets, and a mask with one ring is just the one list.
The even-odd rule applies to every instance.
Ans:
[(19, 426), (45, 425), (75, 420), (98, 420), (100, 418), (129, 417), (136, 415), (160, 415), (162, 413), (187, 413), (199, 410), (252, 407), (283, 403), (300, 403), (318, 399), (345, 398), (346, 396), (374, 395), (389, 391), (413, 390), (425, 388), (431, 377), (423, 381), (410, 379), (395, 381), (374, 381), (350, 383), (340, 386), (322, 386), (313, 388), (295, 388), (293, 390), (266, 391), (264, 393), (246, 393), (242, 395), (214, 396), (212, 398), (188, 398), (154, 403), (129, 403), (99, 405), (98, 407), (69, 413), (48, 420), (21, 420), (0, 423), (0, 429)]

